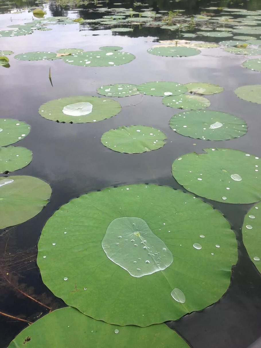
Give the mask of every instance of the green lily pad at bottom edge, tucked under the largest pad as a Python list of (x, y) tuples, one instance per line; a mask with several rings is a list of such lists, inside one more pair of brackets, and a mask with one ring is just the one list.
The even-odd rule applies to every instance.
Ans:
[(27, 326), (8, 348), (189, 348), (166, 324), (149, 327), (116, 326), (94, 320), (65, 307)]

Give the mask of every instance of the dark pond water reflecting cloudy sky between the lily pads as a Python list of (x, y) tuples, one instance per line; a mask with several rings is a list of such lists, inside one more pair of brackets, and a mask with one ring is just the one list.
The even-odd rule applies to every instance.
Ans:
[[(39, 6), (46, 11), (45, 17), (63, 16), (87, 20), (82, 24), (48, 24), (48, 28), (52, 30), (34, 30), (30, 35), (0, 37), (0, 50), (12, 50), (14, 55), (17, 55), (25, 52), (56, 52), (63, 48), (96, 51), (101, 46), (120, 46), (123, 52), (135, 56), (134, 60), (124, 65), (84, 67), (66, 64), (63, 59), (20, 61), (15, 59), (14, 55), (8, 55), (10, 67), (0, 66), (2, 86), (0, 117), (15, 118), (31, 126), (30, 134), (19, 141), (18, 146), (33, 152), (32, 162), (10, 175), (35, 176), (48, 182), (52, 187), (51, 199), (38, 215), (15, 227), (0, 230), (2, 264), (0, 311), (30, 322), (47, 314), (48, 309), (23, 296), (16, 287), (38, 301), (46, 303), (52, 309), (66, 306), (42, 283), (36, 265), (37, 243), (41, 230), (59, 207), (84, 193), (125, 184), (153, 183), (187, 192), (172, 176), (172, 163), (185, 153), (193, 151), (202, 153), (204, 148), (230, 148), (261, 157), (260, 104), (242, 100), (234, 94), (234, 90), (240, 86), (260, 84), (260, 73), (243, 68), (242, 63), (247, 59), (260, 58), (261, 55), (232, 54), (224, 51), (222, 47), (203, 48), (199, 55), (189, 57), (164, 57), (147, 53), (148, 49), (163, 40), (200, 42), (233, 40), (232, 36), (190, 38), (184, 37), (182, 33), (195, 33), (200, 31), (201, 27), (209, 32), (215, 31), (216, 27), (225, 28), (228, 25), (226, 21), (221, 21), (222, 16), (242, 19), (248, 15), (248, 13), (244, 15), (243, 12), (243, 15), (234, 14), (221, 9), (226, 7), (256, 11), (255, 17), (261, 19), (261, 2), (259, 0), (216, 2), (148, 0), (142, 4), (135, 4), (132, 1), (120, 2), (0, 1), (0, 30), (10, 30), (9, 25), (37, 20), (30, 9)], [(124, 25), (88, 22), (90, 19), (106, 15), (109, 17), (117, 15), (120, 11), (115, 8), (123, 8), (122, 11), (124, 8), (132, 8), (137, 13), (145, 13), (146, 10), (155, 11), (162, 17), (168, 16), (168, 11), (173, 11), (176, 15), (174, 19), (165, 19), (167, 21), (165, 24), (153, 24), (153, 21), (158, 22), (163, 19), (154, 15), (149, 22), (130, 21)], [(182, 11), (177, 12), (177, 10)], [(182, 27), (176, 30), (160, 27), (173, 25), (168, 21), (175, 22), (175, 18), (179, 16), (183, 18), (177, 21), (178, 25), (191, 23), (190, 18), (194, 15), (199, 15), (195, 18), (200, 16), (209, 18), (206, 21), (199, 20), (195, 23), (193, 21), (188, 31), (182, 31)], [(139, 18), (146, 18), (135, 14), (133, 17), (137, 17), (137, 21)], [(219, 17), (218, 20), (209, 21), (215, 17)], [(189, 20), (186, 21), (184, 18)], [(254, 19), (257, 23), (253, 28), (261, 29), (260, 19)], [(108, 21), (110, 20), (109, 18)], [(240, 25), (246, 24), (240, 22)], [(122, 26), (133, 31), (110, 30)], [(213, 27), (214, 29), (211, 29)], [(224, 32), (226, 31), (220, 30), (220, 33)], [(261, 40), (261, 31), (259, 34), (234, 35), (249, 35)], [(258, 49), (258, 46), (254, 48)], [(49, 69), (52, 84), (49, 80)], [(163, 105), (162, 97), (144, 94), (125, 98), (112, 97), (121, 104), (121, 112), (101, 122), (62, 123), (47, 120), (38, 113), (40, 105), (54, 99), (84, 95), (101, 96), (96, 90), (103, 85), (116, 83), (139, 85), (149, 81), (175, 81), (180, 84), (200, 81), (224, 87), (222, 93), (206, 96), (211, 102), (209, 109), (244, 119), (248, 125), (247, 134), (224, 141), (207, 141), (183, 136), (173, 132), (169, 127), (169, 119), (179, 112), (179, 109)], [(160, 129), (167, 136), (166, 144), (156, 151), (129, 155), (112, 151), (101, 143), (103, 133), (128, 125)], [(0, 179), (1, 177), (8, 177), (8, 174), (0, 174)], [(238, 242), (238, 263), (232, 268), (228, 291), (219, 301), (203, 311), (185, 315), (178, 321), (168, 322), (167, 325), (176, 330), (192, 348), (246, 348), (261, 336), (261, 277), (247, 254), (241, 230), (244, 216), (253, 205), (219, 203), (207, 199), (204, 201), (218, 209), (231, 224)], [(209, 229), (211, 228), (212, 226), (209, 226)], [(202, 233), (204, 234), (204, 231)], [(10, 269), (12, 275), (11, 277), (8, 275), (10, 283), (6, 281), (7, 269)], [(25, 322), (6, 316), (0, 316), (0, 322), (0, 347), (7, 347), (15, 335), (27, 326)]]

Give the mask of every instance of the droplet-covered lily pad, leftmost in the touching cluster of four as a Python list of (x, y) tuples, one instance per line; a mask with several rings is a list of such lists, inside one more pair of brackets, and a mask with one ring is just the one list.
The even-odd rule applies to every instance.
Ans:
[(140, 94), (136, 85), (131, 84), (114, 84), (101, 86), (97, 93), (107, 97), (128, 97), (130, 95)]

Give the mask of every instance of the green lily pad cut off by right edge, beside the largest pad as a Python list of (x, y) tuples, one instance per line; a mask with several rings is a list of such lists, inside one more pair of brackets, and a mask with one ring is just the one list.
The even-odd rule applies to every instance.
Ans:
[(261, 273), (261, 203), (254, 205), (246, 214), (242, 227), (243, 242), (250, 259)]

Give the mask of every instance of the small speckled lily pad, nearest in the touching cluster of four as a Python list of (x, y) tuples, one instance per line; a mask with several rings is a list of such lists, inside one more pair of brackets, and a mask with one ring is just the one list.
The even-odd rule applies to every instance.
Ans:
[(178, 96), (164, 97), (162, 103), (166, 106), (171, 106), (175, 109), (198, 110), (210, 106), (210, 101), (207, 98), (199, 95), (183, 94)]

